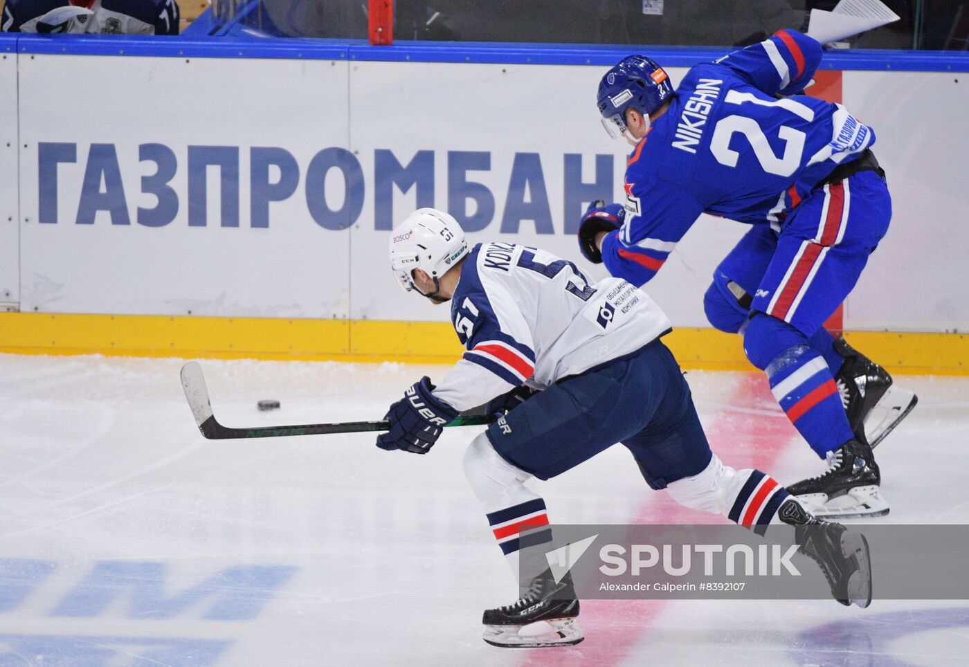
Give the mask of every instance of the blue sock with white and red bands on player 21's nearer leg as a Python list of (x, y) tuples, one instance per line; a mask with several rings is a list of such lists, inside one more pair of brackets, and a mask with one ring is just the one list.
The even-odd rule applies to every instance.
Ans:
[(758, 314), (744, 332), (743, 349), (766, 372), (777, 403), (818, 456), (825, 458), (855, 437), (828, 362), (803, 333)]

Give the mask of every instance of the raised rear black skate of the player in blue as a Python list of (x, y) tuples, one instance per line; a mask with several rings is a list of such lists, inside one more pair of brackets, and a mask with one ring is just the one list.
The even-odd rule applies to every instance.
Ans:
[(851, 430), (855, 438), (874, 447), (915, 408), (919, 397), (891, 386), (888, 371), (843, 338), (834, 341), (834, 349), (845, 359), (834, 381), (848, 412)]

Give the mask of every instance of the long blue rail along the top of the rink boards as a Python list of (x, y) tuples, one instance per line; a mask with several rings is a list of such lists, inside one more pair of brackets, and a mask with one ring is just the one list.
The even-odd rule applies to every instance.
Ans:
[[(203, 15), (204, 17), (204, 15)], [(198, 20), (203, 20), (203, 17)], [(203, 27), (207, 27), (207, 23)], [(179, 37), (123, 35), (0, 34), (0, 52), (20, 54), (119, 55), (175, 58), (286, 58), (389, 62), (507, 63), (514, 65), (610, 66), (634, 51), (668, 67), (690, 67), (731, 46), (547, 45), (468, 42), (396, 42), (374, 46), (365, 40), (266, 38), (231, 29), (229, 36), (192, 30)], [(12, 44), (13, 43), (13, 44)], [(969, 52), (851, 49), (828, 50), (828, 70), (969, 72)]]

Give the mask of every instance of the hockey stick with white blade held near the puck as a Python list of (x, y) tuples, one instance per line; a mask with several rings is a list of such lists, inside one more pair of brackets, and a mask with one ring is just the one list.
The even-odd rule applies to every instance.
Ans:
[[(387, 421), (344, 421), (335, 424), (297, 424), (293, 426), (255, 426), (252, 428), (234, 429), (223, 426), (212, 413), (212, 404), (208, 400), (208, 389), (205, 387), (205, 377), (202, 366), (190, 361), (181, 370), (182, 388), (188, 406), (195, 416), (195, 423), (199, 425), (202, 435), (208, 440), (227, 440), (234, 438), (281, 438), (283, 436), (319, 436), (333, 433), (362, 433), (366, 431), (389, 431), (391, 423)], [(480, 426), (490, 424), (494, 418), (490, 414), (457, 417), (448, 426)]]

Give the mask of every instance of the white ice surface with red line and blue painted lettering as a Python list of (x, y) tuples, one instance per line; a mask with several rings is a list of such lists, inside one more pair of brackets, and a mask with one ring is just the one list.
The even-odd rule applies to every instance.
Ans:
[[(203, 440), (176, 359), (0, 355), (0, 665), (951, 665), (969, 602), (589, 601), (586, 640), (511, 651), (481, 613), (516, 587), (461, 472), (372, 434)], [(401, 364), (203, 361), (228, 426), (376, 419)], [(690, 373), (711, 445), (781, 482), (824, 469), (757, 374)], [(969, 379), (901, 377), (919, 406), (878, 450), (891, 514), (969, 523)], [(260, 399), (282, 409), (260, 412)], [(532, 487), (553, 523), (716, 523), (613, 447)], [(929, 547), (930, 548), (930, 547)]]

